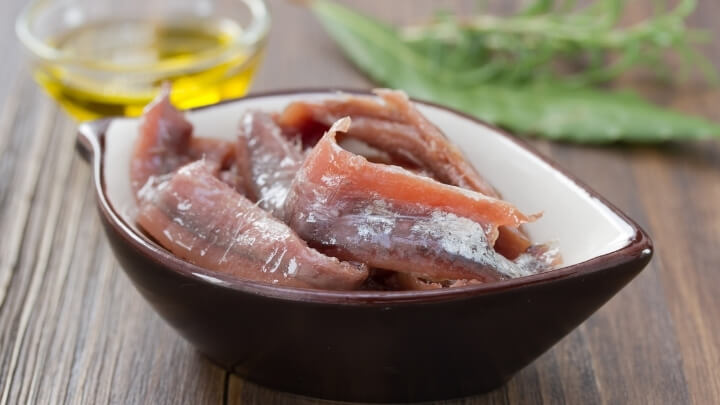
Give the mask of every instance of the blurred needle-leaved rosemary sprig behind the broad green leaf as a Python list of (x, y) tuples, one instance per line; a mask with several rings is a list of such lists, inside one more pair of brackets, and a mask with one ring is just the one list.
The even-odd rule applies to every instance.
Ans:
[[(568, 2), (564, 7), (555, 3), (539, 0), (510, 17), (442, 14), (428, 24), (408, 26), (400, 32), (418, 51), (433, 49), (428, 61), (436, 65), (444, 63), (449, 54), (463, 55), (465, 64), (454, 66), (460, 75), (458, 86), (481, 78), (507, 83), (553, 78), (569, 85), (598, 84), (639, 66), (657, 73), (668, 71), (662, 59), (668, 50), (677, 51), (686, 62), (692, 60), (709, 81), (718, 82), (715, 70), (692, 48), (707, 36), (685, 25), (685, 18), (695, 8), (694, 0), (683, 0), (672, 10), (658, 6), (655, 16), (629, 27), (617, 25), (623, 1), (596, 0), (580, 10), (568, 8)], [(488, 63), (492, 75), (487, 73)], [(569, 73), (567, 66), (575, 71)]]

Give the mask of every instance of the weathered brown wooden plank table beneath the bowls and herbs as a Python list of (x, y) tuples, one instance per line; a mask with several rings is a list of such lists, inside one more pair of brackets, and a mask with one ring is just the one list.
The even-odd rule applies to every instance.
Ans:
[[(12, 33), (23, 3), (0, 5), (0, 404), (318, 403), (215, 367), (129, 283), (100, 229), (88, 165), (73, 150), (75, 124), (23, 67)], [(306, 10), (271, 3), (274, 29), (253, 91), (370, 86)], [(692, 24), (713, 31), (706, 51), (717, 66), (720, 3), (699, 3)], [(433, 8), (358, 5), (394, 22)], [(633, 2), (635, 17), (648, 10)], [(720, 121), (718, 90), (655, 96)], [(534, 143), (642, 224), (655, 259), (506, 386), (447, 403), (720, 403), (720, 143)]]

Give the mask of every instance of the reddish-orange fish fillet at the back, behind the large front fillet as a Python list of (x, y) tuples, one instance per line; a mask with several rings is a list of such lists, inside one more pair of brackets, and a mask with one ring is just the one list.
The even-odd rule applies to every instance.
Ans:
[[(367, 97), (347, 97), (320, 103), (294, 102), (277, 117), (289, 132), (315, 139), (338, 119), (353, 120), (347, 136), (405, 159), (425, 169), (436, 180), (500, 198), (497, 191), (465, 159), (460, 150), (423, 116), (402, 91), (378, 89), (383, 103)], [(322, 132), (320, 132), (322, 133)], [(516, 227), (501, 227), (496, 250), (514, 259), (530, 247)]]

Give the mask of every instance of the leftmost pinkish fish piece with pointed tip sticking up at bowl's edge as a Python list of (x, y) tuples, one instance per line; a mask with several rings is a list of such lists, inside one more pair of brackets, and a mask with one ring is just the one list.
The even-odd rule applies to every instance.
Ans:
[(173, 172), (198, 159), (213, 162), (218, 174), (236, 181), (225, 172), (234, 171), (235, 144), (230, 141), (193, 137), (193, 127), (183, 113), (170, 103), (169, 89), (145, 108), (140, 134), (130, 162), (130, 184), (137, 195), (154, 178)]

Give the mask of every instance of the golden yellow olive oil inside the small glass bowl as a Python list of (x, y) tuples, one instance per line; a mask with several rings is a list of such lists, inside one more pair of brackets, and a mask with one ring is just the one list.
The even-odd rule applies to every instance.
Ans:
[(81, 121), (140, 115), (164, 82), (180, 108), (212, 104), (250, 86), (263, 44), (239, 46), (242, 33), (226, 19), (95, 22), (49, 41), (63, 57), (35, 77)]

